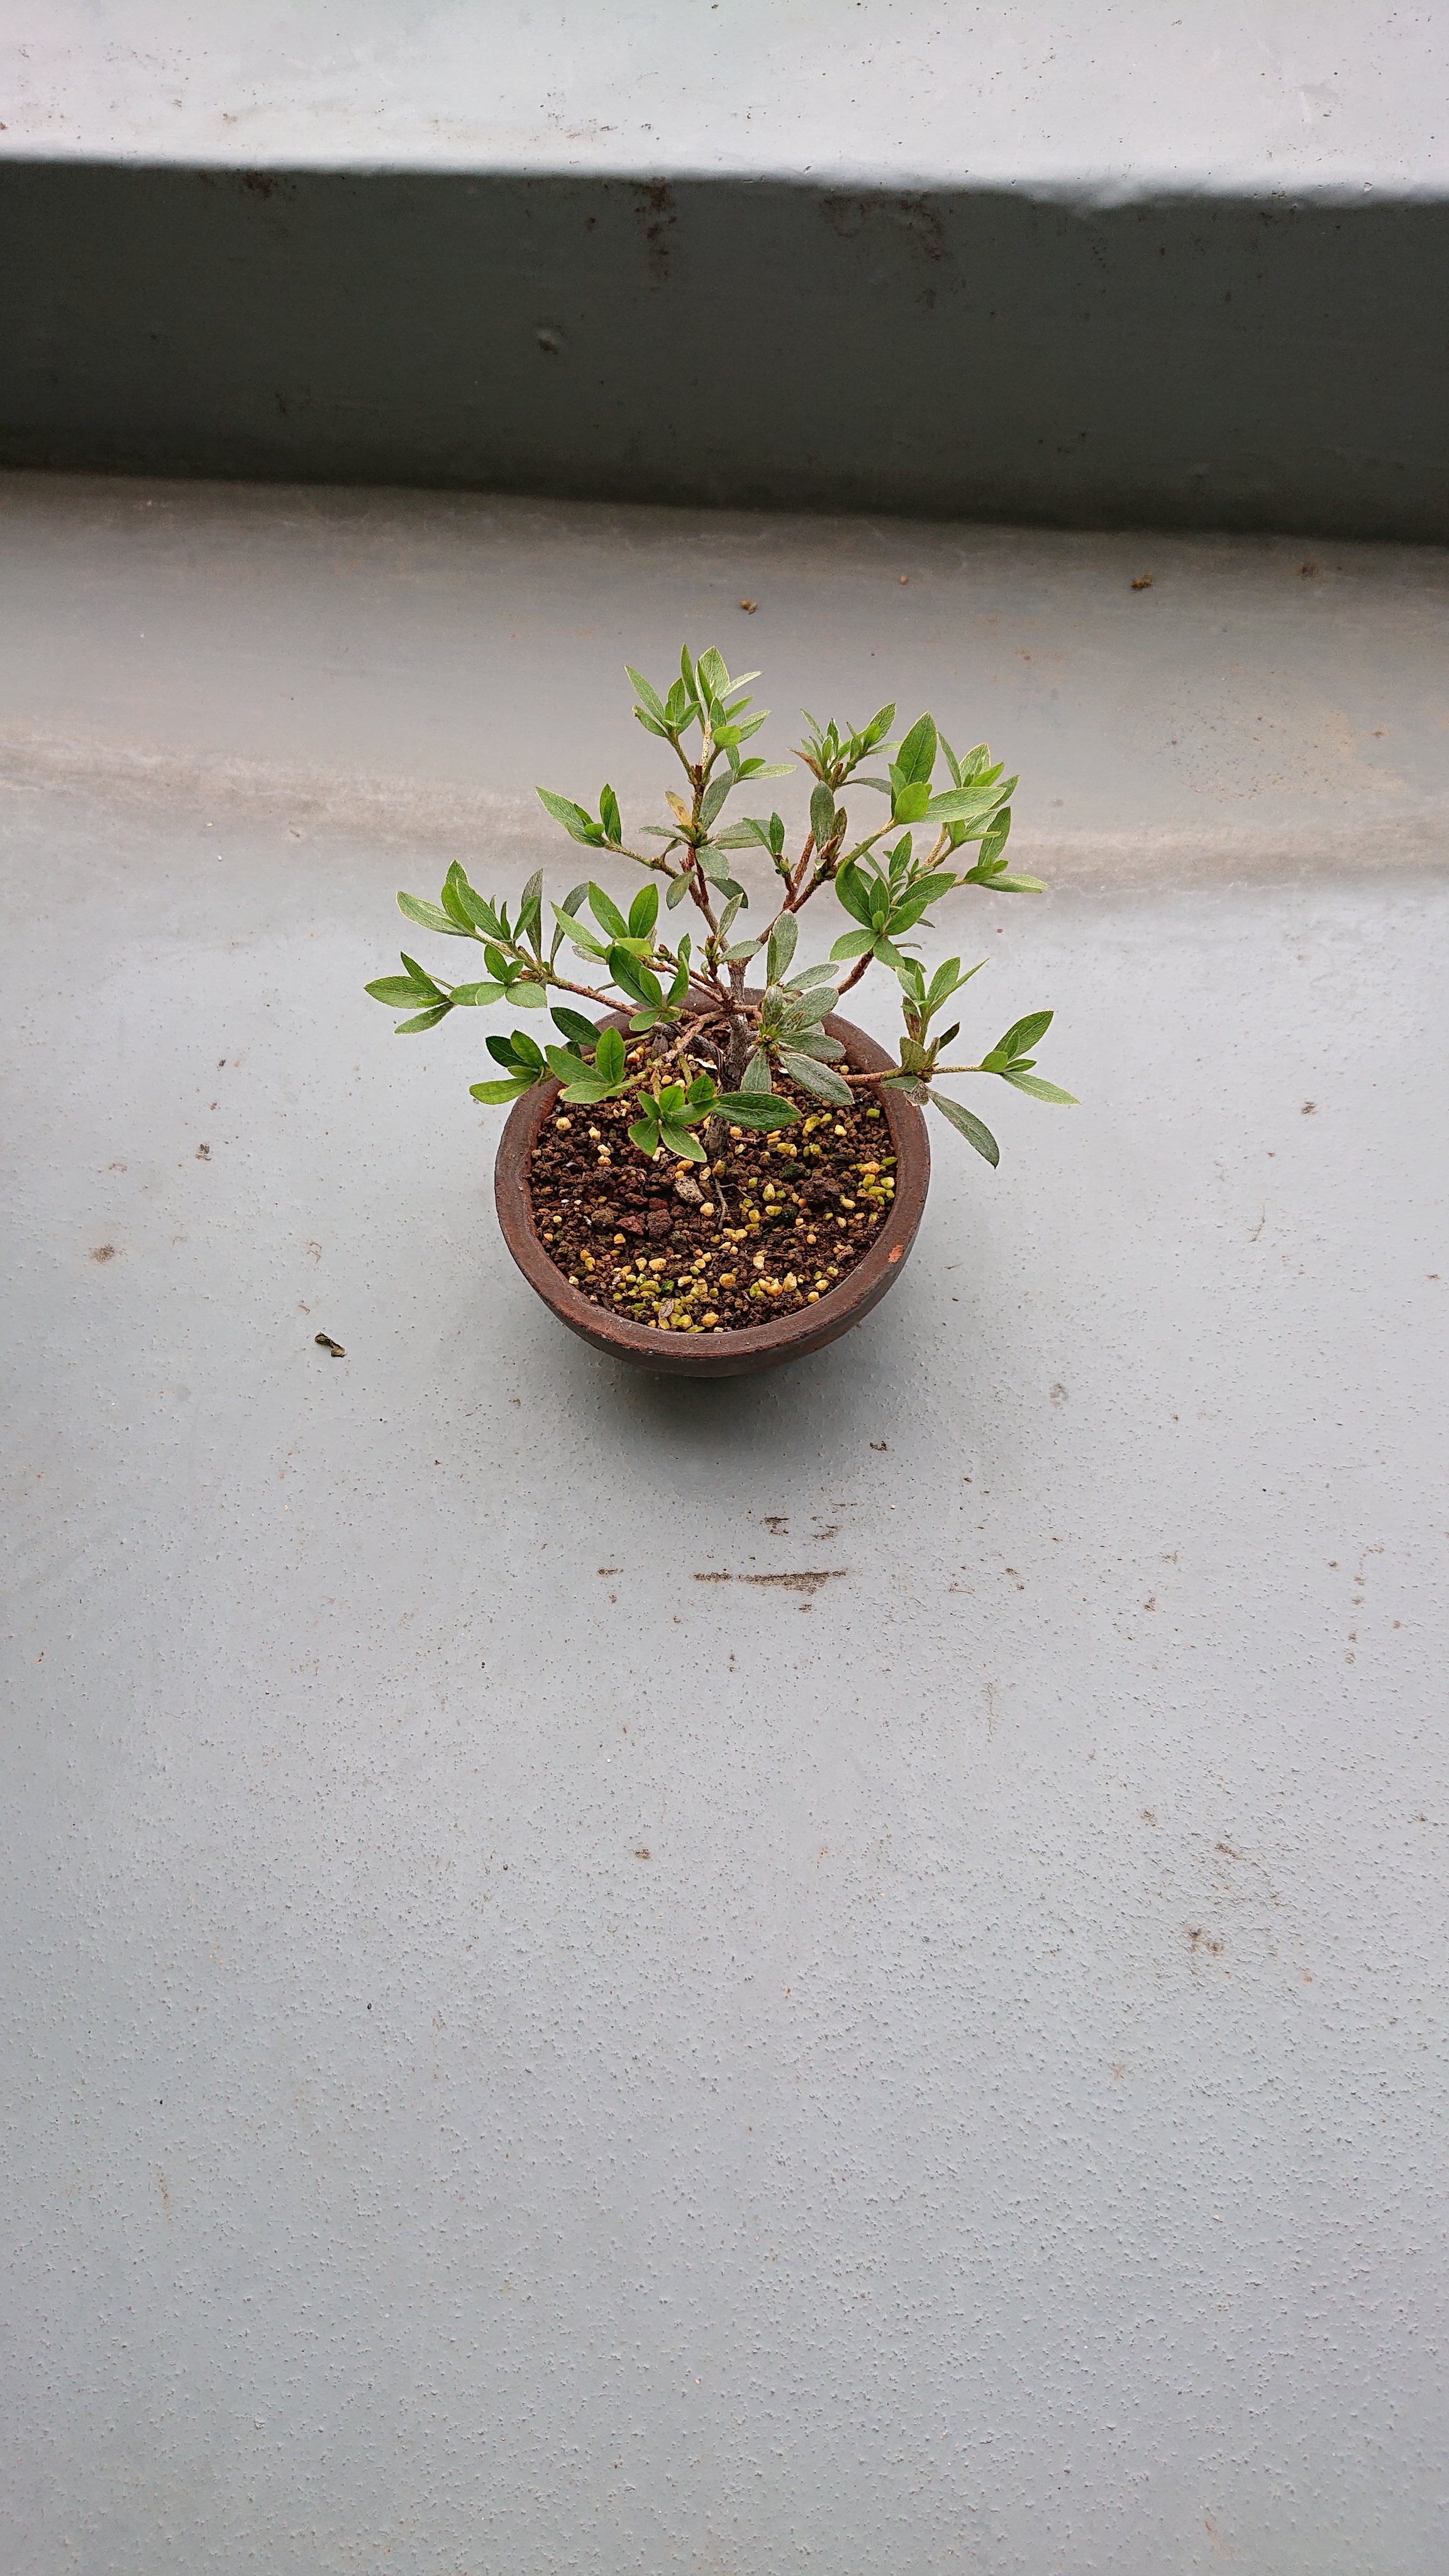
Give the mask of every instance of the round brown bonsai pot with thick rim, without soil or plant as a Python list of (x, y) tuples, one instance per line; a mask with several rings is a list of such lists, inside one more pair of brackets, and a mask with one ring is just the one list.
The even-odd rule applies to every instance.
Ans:
[[(627, 1015), (616, 1015), (603, 1025), (627, 1030), (629, 1020)], [(864, 1028), (856, 1028), (853, 1020), (830, 1018), (825, 1020), (825, 1030), (846, 1048), (851, 1072), (884, 1074), (890, 1066), (892, 1059), (884, 1048), (874, 1038), (866, 1038)], [(544, 1298), (544, 1306), (552, 1306), (559, 1324), (578, 1332), (583, 1342), (593, 1342), (596, 1350), (608, 1350), (616, 1360), (632, 1360), (637, 1368), (652, 1368), (663, 1378), (745, 1378), (755, 1368), (779, 1368), (781, 1360), (799, 1360), (807, 1350), (822, 1350), (825, 1342), (835, 1342), (871, 1306), (879, 1306), (887, 1288), (895, 1288), (915, 1242), (931, 1185), (926, 1118), (902, 1092), (879, 1092), (895, 1151), (895, 1198), (869, 1252), (817, 1306), (784, 1314), (773, 1324), (750, 1324), (743, 1332), (660, 1332), (652, 1324), (634, 1324), (608, 1306), (593, 1306), (580, 1288), (570, 1288), (539, 1242), (529, 1193), (534, 1144), (557, 1097), (559, 1084), (544, 1082), (539, 1090), (523, 1092), (508, 1113), (492, 1170), (498, 1224), (503, 1226), (503, 1242), (529, 1285)]]

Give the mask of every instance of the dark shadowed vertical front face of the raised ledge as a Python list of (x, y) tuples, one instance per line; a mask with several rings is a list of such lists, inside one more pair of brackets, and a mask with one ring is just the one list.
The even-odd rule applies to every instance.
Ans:
[(0, 459), (1449, 538), (1449, 204), (3, 162)]

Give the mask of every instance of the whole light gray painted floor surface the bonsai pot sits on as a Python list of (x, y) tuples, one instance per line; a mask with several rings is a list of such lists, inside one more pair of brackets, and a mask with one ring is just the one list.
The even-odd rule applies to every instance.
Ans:
[[(0, 538), (0, 2563), (1436, 2576), (1444, 562)], [(678, 1388), (552, 1327), (477, 1041), (361, 981), (706, 629), (982, 708), (1062, 881), (944, 933), (1083, 1108)]]

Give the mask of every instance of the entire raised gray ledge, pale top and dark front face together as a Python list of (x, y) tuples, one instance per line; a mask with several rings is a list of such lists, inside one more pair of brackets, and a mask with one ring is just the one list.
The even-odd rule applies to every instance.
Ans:
[(1449, 536), (1428, 13), (57, 8), (0, 461)]

